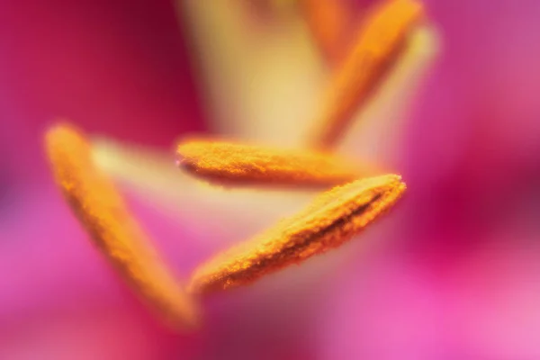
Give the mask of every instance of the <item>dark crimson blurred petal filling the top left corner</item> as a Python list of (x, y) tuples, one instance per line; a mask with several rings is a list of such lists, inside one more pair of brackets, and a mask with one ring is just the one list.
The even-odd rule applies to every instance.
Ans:
[(0, 32), (3, 168), (32, 166), (58, 117), (164, 148), (204, 129), (171, 2), (5, 1)]

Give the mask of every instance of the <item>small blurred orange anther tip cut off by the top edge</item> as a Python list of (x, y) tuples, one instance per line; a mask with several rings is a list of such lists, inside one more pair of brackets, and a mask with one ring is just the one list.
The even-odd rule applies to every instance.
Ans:
[(335, 62), (344, 54), (351, 23), (341, 0), (301, 0), (302, 13), (324, 57)]

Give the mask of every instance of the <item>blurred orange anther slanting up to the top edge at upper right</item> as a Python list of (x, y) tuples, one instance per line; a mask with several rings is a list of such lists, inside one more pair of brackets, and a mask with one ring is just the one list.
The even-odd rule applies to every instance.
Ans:
[(337, 143), (356, 109), (374, 93), (400, 57), (410, 31), (423, 15), (422, 5), (414, 0), (376, 5), (329, 81), (311, 146), (330, 148)]

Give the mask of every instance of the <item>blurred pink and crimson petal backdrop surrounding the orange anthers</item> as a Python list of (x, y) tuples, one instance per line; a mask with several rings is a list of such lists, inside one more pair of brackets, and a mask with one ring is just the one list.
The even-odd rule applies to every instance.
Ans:
[[(317, 284), (216, 296), (182, 335), (90, 246), (41, 144), (58, 117), (166, 151), (210, 131), (174, 4), (2, 2), (0, 358), (539, 358), (540, 3), (424, 4), (443, 51), (405, 129), (409, 193), (385, 245)], [(200, 234), (130, 199), (176, 271), (202, 257)]]

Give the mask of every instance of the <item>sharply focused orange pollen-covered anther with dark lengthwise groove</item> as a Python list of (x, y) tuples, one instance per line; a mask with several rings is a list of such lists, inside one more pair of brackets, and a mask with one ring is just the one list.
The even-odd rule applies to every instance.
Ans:
[(322, 193), (304, 211), (199, 266), (189, 291), (208, 293), (250, 284), (339, 247), (392, 208), (405, 188), (399, 175), (381, 175)]

